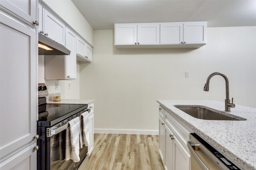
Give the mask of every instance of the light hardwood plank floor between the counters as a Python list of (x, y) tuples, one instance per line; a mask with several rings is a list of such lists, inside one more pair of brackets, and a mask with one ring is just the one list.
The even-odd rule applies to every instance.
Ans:
[(94, 134), (89, 170), (164, 170), (157, 135)]

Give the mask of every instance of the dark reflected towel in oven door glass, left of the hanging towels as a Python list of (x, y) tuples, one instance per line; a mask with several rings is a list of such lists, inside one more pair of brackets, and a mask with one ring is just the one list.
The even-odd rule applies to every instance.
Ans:
[(66, 156), (66, 130), (53, 136), (51, 161), (64, 160)]

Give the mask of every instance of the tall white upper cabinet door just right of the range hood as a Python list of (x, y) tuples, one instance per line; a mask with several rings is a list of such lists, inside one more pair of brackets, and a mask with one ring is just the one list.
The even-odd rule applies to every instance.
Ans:
[(76, 34), (66, 28), (66, 48), (70, 55), (65, 56), (66, 78), (76, 79)]

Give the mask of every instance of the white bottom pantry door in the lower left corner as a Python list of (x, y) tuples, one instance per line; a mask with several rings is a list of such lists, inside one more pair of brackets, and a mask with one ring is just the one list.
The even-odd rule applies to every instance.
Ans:
[(1, 170), (36, 170), (36, 141), (0, 163)]

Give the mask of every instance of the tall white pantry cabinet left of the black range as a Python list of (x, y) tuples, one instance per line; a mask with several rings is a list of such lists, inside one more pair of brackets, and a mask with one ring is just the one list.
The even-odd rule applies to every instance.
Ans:
[(37, 0), (0, 1), (0, 169), (36, 169)]

